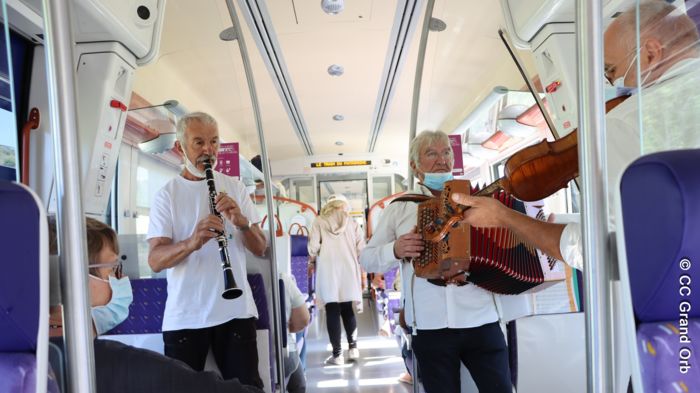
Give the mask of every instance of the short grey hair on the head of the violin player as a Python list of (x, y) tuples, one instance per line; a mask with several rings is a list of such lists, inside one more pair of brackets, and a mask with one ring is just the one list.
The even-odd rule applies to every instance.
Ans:
[[(620, 39), (630, 51), (637, 46), (636, 22), (636, 6), (620, 14), (614, 22), (621, 25), (623, 33)], [(640, 41), (650, 36), (657, 38), (671, 53), (678, 54), (696, 47), (698, 43), (698, 30), (692, 19), (665, 1), (653, 0), (640, 4), (639, 26)]]

